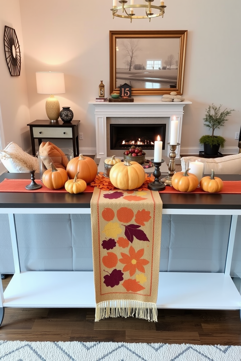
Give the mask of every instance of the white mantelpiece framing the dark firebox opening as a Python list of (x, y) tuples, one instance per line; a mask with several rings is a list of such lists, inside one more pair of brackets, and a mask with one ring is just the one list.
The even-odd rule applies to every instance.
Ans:
[[(128, 118), (126, 121), (132, 123), (132, 118), (142, 118), (144, 123), (145, 118), (155, 118), (155, 122), (167, 123), (165, 144), (170, 140), (170, 122), (176, 117), (178, 120), (178, 139), (177, 142), (181, 143), (181, 130), (182, 130), (182, 116), (184, 113), (184, 106), (192, 104), (191, 101), (181, 102), (163, 102), (163, 101), (134, 101), (133, 103), (109, 103), (109, 102), (96, 102), (89, 101), (89, 104), (95, 106), (95, 132), (96, 132), (96, 158), (109, 156), (107, 144), (107, 118)], [(163, 118), (163, 119), (162, 119)], [(167, 119), (167, 120), (166, 120)], [(163, 154), (169, 155), (170, 147), (166, 146)], [(112, 151), (113, 152), (113, 151)], [(121, 151), (123, 153), (123, 151)], [(116, 152), (115, 152), (116, 153)], [(153, 156), (154, 151), (147, 156)], [(118, 154), (116, 154), (118, 156)], [(177, 146), (176, 157), (180, 158), (180, 145)]]

